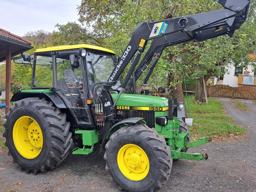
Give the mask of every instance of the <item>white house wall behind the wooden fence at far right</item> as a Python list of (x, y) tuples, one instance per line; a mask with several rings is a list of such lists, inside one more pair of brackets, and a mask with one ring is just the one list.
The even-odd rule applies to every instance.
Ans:
[[(236, 67), (233, 65), (233, 63), (225, 67), (225, 71), (227, 70), (228, 70), (228, 73), (226, 73), (223, 78), (223, 85), (229, 85), (230, 87), (238, 87), (238, 84), (237, 84), (238, 77), (235, 76)], [(243, 69), (242, 74), (244, 74), (244, 71), (245, 70)], [(254, 74), (252, 64), (248, 64), (248, 69), (246, 71), (250, 71), (251, 72), (250, 75)]]

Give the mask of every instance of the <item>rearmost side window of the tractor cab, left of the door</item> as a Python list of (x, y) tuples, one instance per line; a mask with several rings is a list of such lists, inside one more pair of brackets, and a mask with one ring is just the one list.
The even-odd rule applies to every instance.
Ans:
[(32, 87), (52, 87), (52, 54), (35, 54), (35, 76)]

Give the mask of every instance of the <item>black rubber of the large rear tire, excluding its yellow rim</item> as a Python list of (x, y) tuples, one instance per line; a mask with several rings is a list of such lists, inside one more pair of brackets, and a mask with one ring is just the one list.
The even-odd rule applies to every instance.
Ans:
[[(43, 134), (43, 147), (38, 156), (28, 159), (16, 149), (12, 137), (13, 126), (21, 116), (29, 116), (36, 120)], [(37, 174), (46, 172), (58, 166), (68, 155), (71, 146), (72, 133), (69, 132), (70, 123), (66, 122), (66, 114), (53, 105), (53, 102), (40, 98), (26, 98), (17, 101), (6, 114), (4, 122), (6, 138), (5, 146), (9, 148), (8, 155), (13, 157), (13, 163), (27, 173)]]

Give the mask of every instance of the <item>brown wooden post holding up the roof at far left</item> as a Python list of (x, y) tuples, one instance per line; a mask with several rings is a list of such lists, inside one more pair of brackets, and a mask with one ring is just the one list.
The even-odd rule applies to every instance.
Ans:
[[(6, 46), (6, 79), (5, 79), (5, 104), (6, 106), (10, 106), (11, 100), (11, 48), (10, 46)], [(9, 107), (6, 108), (5, 113), (9, 112)]]

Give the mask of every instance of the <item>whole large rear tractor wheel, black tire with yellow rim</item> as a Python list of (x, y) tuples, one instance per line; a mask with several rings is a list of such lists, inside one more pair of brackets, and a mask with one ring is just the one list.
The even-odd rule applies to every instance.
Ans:
[(52, 102), (39, 98), (17, 101), (6, 114), (4, 127), (8, 155), (27, 173), (54, 169), (68, 155), (70, 123)]

